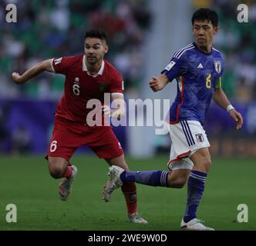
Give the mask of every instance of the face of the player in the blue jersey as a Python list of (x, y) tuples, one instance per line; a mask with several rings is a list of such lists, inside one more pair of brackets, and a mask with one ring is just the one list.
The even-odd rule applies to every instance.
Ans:
[(218, 28), (214, 27), (211, 21), (194, 21), (193, 35), (199, 48), (208, 48), (212, 44), (214, 35)]

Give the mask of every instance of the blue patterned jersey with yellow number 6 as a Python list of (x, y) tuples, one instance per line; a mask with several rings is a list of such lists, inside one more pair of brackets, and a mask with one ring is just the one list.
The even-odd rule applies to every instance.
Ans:
[(223, 71), (224, 58), (215, 48), (207, 54), (193, 43), (174, 53), (162, 71), (169, 81), (177, 80), (177, 97), (167, 121), (175, 124), (194, 120), (203, 124), (214, 90), (221, 87)]

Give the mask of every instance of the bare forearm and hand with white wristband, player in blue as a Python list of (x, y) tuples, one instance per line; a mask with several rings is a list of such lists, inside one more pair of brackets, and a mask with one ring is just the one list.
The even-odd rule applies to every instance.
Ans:
[(225, 110), (227, 110), (231, 118), (233, 118), (234, 121), (237, 122), (237, 130), (240, 129), (243, 125), (243, 117), (238, 111), (234, 109), (234, 107), (231, 105), (231, 102), (228, 101), (227, 96), (225, 95), (221, 86), (215, 88), (213, 98), (215, 103), (221, 108), (224, 108)]

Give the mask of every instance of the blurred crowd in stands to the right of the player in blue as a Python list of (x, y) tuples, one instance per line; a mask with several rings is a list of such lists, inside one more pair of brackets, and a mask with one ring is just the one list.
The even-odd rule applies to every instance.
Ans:
[[(248, 5), (248, 23), (237, 22), (237, 5)], [(211, 7), (219, 14), (220, 32), (215, 37), (216, 48), (226, 56), (223, 88), (230, 98), (246, 103), (254, 101), (256, 95), (256, 2), (211, 1)]]

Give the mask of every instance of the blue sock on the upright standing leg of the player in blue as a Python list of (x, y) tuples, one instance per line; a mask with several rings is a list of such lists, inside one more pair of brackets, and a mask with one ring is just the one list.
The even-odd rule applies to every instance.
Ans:
[(191, 171), (190, 178), (187, 182), (187, 208), (184, 216), (184, 221), (197, 218), (197, 207), (200, 204), (203, 192), (204, 183), (207, 174), (201, 171)]

